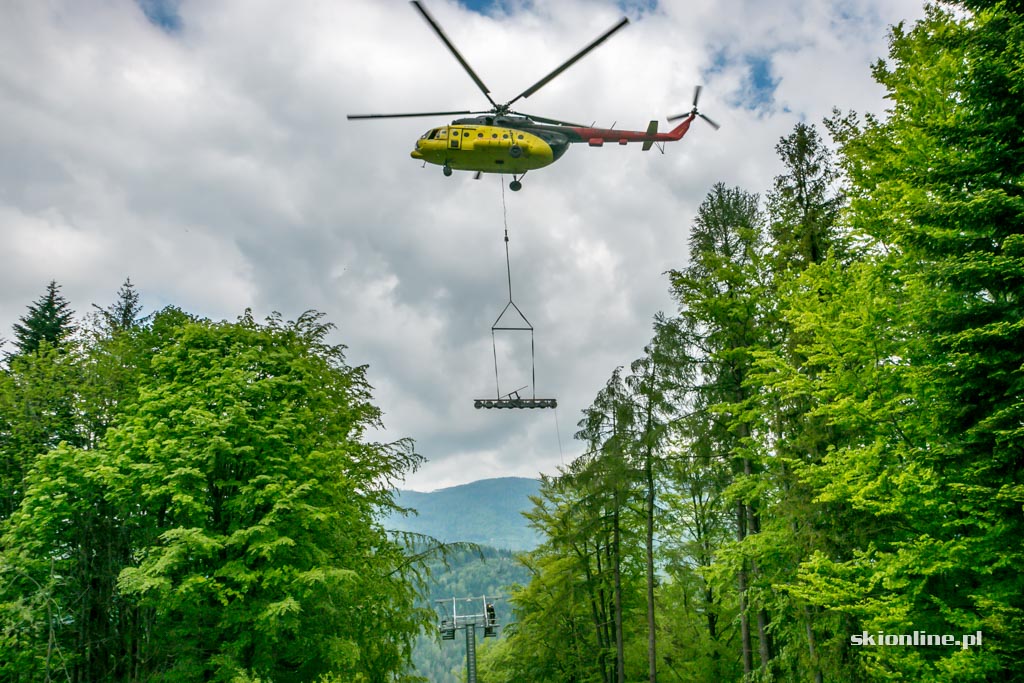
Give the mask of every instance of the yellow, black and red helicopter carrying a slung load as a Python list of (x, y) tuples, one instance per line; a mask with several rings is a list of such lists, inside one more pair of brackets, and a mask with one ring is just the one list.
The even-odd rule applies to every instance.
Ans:
[(412, 4), (444, 43), (452, 55), (462, 65), (469, 77), (473, 79), (476, 87), (490, 102), (492, 109), (477, 112), (467, 110), (411, 114), (351, 114), (348, 115), (348, 119), (404, 119), (469, 115), (470, 118), (456, 119), (447, 126), (431, 128), (417, 140), (416, 147), (411, 153), (413, 159), (422, 160), (424, 164), (440, 166), (446, 176), (452, 175), (456, 170), (475, 171), (476, 178), (479, 178), (481, 173), (511, 174), (512, 182), (509, 183), (509, 187), (513, 191), (518, 191), (522, 188), (521, 178), (527, 171), (555, 163), (565, 154), (570, 144), (586, 142), (592, 147), (600, 147), (605, 142), (617, 144), (641, 142), (641, 148), (647, 152), (655, 143), (662, 143), (659, 148), (664, 152), (664, 143), (682, 139), (696, 118), (703, 119), (716, 130), (719, 128), (717, 123), (697, 111), (700, 86), (694, 90), (693, 105), (689, 112), (669, 117), (669, 121), (684, 120), (668, 132), (658, 132), (656, 120), (651, 121), (646, 130), (615, 130), (613, 128), (593, 128), (512, 110), (512, 104), (532, 95), (614, 33), (625, 28), (629, 24), (629, 19), (625, 16), (540, 81), (509, 101), (499, 103), (490, 96), (490, 90), (459, 53), (455, 44), (449, 40), (440, 25), (430, 15), (426, 7), (419, 0), (413, 0)]

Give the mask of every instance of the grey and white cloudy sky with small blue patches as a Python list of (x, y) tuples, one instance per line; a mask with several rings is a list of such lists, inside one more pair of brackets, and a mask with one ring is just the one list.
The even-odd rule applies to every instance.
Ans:
[[(0, 336), (56, 280), (76, 310), (126, 276), (146, 310), (214, 319), (325, 311), (369, 365), (381, 438), (412, 436), (422, 490), (554, 472), (581, 411), (641, 354), (664, 272), (718, 181), (763, 193), (774, 146), (834, 106), (882, 113), (869, 65), (918, 0), (425, 0), (506, 101), (631, 24), (522, 111), (644, 129), (689, 109), (665, 155), (574, 145), (529, 173), (446, 178), (409, 153), (484, 109), (402, 0), (6, 0), (0, 3)], [(537, 395), (557, 411), (478, 411), (496, 395), (490, 326), (514, 300), (536, 329)], [(502, 393), (529, 383), (528, 333), (498, 333)], [(529, 389), (526, 390), (529, 392)]]

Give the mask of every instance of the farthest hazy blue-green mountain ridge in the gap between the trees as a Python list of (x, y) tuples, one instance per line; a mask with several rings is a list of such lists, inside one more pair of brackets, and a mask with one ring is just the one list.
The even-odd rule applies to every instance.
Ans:
[(395, 504), (416, 515), (392, 515), (388, 528), (425, 533), (444, 543), (465, 541), (505, 550), (530, 550), (540, 536), (522, 516), (541, 482), (522, 477), (482, 479), (430, 493), (399, 490)]

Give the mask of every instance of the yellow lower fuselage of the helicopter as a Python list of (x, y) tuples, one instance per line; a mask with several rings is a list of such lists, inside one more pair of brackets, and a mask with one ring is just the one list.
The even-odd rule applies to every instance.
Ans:
[(532, 133), (469, 124), (427, 131), (416, 142), (412, 157), (461, 171), (509, 174), (525, 173), (555, 161), (551, 145)]

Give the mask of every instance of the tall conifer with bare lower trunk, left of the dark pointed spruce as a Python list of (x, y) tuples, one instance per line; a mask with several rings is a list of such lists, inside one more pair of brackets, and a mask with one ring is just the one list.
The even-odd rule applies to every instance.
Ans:
[[(753, 352), (763, 347), (762, 299), (765, 283), (764, 216), (757, 195), (717, 183), (700, 204), (690, 236), (690, 264), (671, 270), (673, 295), (679, 303), (682, 332), (691, 340), (697, 369), (694, 415), (714, 419), (707, 437), (717, 458), (732, 464), (736, 541), (760, 531), (762, 502), (756, 493), (762, 465), (751, 447), (756, 436), (742, 404), (751, 398), (748, 377)], [(697, 427), (698, 425), (691, 425)], [(739, 649), (743, 674), (754, 674), (750, 616), (757, 618), (759, 667), (772, 659), (768, 613), (751, 599), (759, 575), (756, 562), (740, 556), (733, 565), (740, 600)]]

